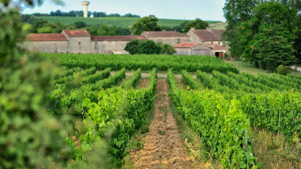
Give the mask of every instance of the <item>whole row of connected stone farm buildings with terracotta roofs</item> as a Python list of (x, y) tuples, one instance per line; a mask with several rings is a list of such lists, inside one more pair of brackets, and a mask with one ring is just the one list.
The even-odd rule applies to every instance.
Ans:
[(42, 53), (128, 54), (124, 50), (126, 44), (132, 39), (140, 39), (174, 45), (180, 54), (183, 49), (177, 45), (195, 42), (197, 45), (189, 43), (194, 52), (189, 53), (186, 49), (184, 53), (199, 54), (197, 48), (206, 48), (209, 51), (199, 51), (201, 55), (221, 56), (228, 50), (221, 45), (222, 33), (223, 30), (191, 28), (186, 35), (176, 31), (145, 31), (141, 35), (91, 36), (85, 29), (63, 30), (61, 33), (29, 34), (23, 45), (29, 51)]

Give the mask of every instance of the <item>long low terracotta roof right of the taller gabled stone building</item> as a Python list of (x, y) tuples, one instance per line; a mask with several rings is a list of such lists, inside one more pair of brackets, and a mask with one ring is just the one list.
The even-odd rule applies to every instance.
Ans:
[(143, 35), (91, 36), (91, 41), (131, 41), (132, 39), (147, 40)]

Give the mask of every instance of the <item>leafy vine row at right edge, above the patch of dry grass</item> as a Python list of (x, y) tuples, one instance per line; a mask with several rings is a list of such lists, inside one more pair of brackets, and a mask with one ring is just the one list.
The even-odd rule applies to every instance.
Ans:
[(301, 139), (301, 97), (298, 92), (238, 95), (237, 99), (257, 128), (267, 128), (272, 132), (279, 130), (290, 141)]

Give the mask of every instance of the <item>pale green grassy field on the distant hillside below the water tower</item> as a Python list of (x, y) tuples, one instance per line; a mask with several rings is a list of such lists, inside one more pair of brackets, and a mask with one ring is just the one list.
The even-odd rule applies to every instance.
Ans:
[[(36, 17), (48, 22), (59, 22), (64, 24), (71, 24), (76, 21), (84, 21), (86, 24), (100, 24), (105, 23), (107, 25), (116, 24), (116, 26), (132, 26), (139, 18), (132, 17), (97, 17), (97, 18), (83, 18), (83, 17)], [(178, 26), (186, 20), (175, 20), (175, 19), (159, 19), (158, 24), (160, 26)], [(221, 21), (206, 21), (208, 24), (213, 24)]]

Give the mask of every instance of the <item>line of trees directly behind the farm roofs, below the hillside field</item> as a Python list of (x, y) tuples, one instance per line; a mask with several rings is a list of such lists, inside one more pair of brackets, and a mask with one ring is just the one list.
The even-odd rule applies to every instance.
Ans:
[(190, 27), (195, 29), (205, 29), (208, 27), (208, 23), (197, 18), (191, 21), (184, 21), (178, 26), (160, 26), (157, 24), (159, 19), (154, 15), (148, 17), (142, 17), (133, 26), (124, 27), (116, 25), (106, 25), (104, 23), (97, 25), (88, 25), (83, 21), (77, 21), (73, 24), (64, 24), (59, 22), (48, 22), (47, 20), (38, 19), (34, 16), (27, 17), (22, 15), (22, 22), (29, 23), (31, 29), (29, 33), (61, 33), (63, 29), (75, 30), (86, 29), (92, 36), (112, 36), (112, 35), (141, 35), (143, 31), (177, 31), (181, 33), (187, 33)]

